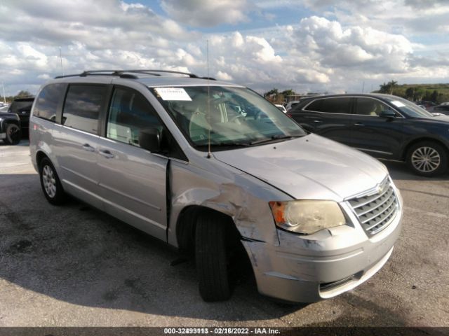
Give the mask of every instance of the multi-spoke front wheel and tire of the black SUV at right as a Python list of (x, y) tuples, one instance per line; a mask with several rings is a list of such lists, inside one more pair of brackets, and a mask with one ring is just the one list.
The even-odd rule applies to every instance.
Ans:
[(422, 141), (410, 147), (407, 163), (415, 174), (441, 175), (448, 170), (448, 152), (434, 141)]

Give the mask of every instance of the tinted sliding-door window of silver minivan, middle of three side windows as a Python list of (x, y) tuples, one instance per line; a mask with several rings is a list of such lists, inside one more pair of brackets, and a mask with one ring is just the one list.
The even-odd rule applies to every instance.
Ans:
[(62, 112), (62, 125), (97, 134), (98, 116), (105, 94), (105, 85), (70, 85)]

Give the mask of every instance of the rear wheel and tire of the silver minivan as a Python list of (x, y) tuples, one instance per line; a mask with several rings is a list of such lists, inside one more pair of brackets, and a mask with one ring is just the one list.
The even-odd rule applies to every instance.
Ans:
[(45, 195), (48, 202), (54, 205), (63, 204), (66, 200), (66, 195), (58, 174), (56, 174), (55, 167), (48, 158), (43, 158), (39, 165), (39, 178), (41, 180), (41, 187), (43, 195)]

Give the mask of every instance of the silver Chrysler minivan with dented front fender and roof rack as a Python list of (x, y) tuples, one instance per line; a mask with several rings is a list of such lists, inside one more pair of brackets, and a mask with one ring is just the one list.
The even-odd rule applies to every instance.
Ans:
[(403, 202), (382, 163), (304, 131), (256, 92), (175, 71), (85, 71), (41, 87), (30, 148), (67, 194), (191, 251), (203, 300), (246, 251), (260, 293), (314, 302), (387, 262)]

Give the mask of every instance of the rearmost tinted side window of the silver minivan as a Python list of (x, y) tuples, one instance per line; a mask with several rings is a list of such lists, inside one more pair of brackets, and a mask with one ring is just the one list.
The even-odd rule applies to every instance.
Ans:
[(65, 84), (62, 83), (50, 84), (44, 87), (36, 98), (33, 115), (54, 122), (58, 104), (64, 97), (64, 89)]

